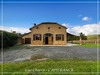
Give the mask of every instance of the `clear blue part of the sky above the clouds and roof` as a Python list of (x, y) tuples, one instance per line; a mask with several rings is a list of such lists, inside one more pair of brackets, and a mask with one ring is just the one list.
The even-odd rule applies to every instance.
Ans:
[[(4, 25), (31, 27), (32, 23), (58, 22), (60, 24), (84, 25), (96, 23), (96, 4), (67, 4), (67, 3), (32, 3), (32, 4), (4, 4)], [(82, 15), (78, 17), (78, 15)], [(82, 21), (83, 17), (92, 20)]]

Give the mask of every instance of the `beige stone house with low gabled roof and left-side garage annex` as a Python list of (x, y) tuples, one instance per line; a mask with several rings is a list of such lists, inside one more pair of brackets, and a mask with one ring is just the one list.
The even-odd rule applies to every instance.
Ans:
[(31, 32), (22, 36), (24, 44), (31, 45), (66, 45), (66, 27), (55, 22), (34, 24)]

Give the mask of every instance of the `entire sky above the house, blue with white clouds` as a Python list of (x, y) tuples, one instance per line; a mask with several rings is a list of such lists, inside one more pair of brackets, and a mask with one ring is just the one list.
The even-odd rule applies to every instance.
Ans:
[(68, 27), (67, 31), (75, 35), (80, 32), (95, 35), (97, 27), (100, 28), (100, 24), (97, 24), (97, 3), (3, 3), (3, 26), (0, 18), (0, 30), (23, 34), (30, 32), (29, 28), (34, 23), (41, 22), (57, 22)]

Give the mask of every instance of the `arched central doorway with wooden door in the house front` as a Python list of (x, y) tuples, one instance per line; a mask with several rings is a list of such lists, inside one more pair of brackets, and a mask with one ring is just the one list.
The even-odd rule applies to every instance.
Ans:
[(50, 33), (44, 34), (43, 43), (45, 45), (52, 45), (53, 44), (53, 34), (50, 34)]

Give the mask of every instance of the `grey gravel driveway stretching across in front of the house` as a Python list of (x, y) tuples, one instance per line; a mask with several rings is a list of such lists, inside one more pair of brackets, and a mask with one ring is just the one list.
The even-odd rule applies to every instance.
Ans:
[(68, 46), (36, 46), (29, 49), (22, 48), (18, 50), (6, 50), (4, 51), (4, 62), (9, 62), (9, 61), (13, 62), (19, 59), (30, 59), (30, 57), (35, 54), (38, 55), (42, 54), (47, 58), (74, 57), (86, 60), (97, 60), (96, 48), (68, 47)]

